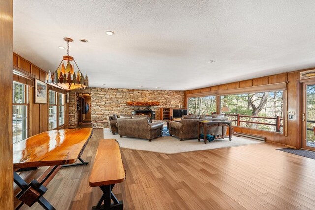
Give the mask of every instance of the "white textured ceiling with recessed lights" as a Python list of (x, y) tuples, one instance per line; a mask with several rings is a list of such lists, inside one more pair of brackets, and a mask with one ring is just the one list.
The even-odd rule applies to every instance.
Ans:
[(90, 87), (184, 90), (315, 67), (314, 0), (14, 0), (13, 12), (14, 52), (55, 71), (71, 37)]

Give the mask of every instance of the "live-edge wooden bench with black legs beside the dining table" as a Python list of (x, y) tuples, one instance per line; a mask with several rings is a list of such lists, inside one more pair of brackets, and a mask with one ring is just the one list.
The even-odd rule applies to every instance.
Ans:
[[(112, 192), (115, 184), (125, 180), (125, 170), (119, 144), (116, 139), (101, 139), (89, 178), (90, 187), (100, 187), (103, 195), (92, 210), (122, 210), (123, 201), (118, 201)], [(113, 201), (114, 203), (112, 203)], [(102, 204), (104, 202), (104, 204)]]

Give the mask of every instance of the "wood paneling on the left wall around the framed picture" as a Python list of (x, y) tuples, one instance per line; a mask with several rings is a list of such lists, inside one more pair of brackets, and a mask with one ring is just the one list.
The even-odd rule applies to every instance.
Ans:
[[(36, 79), (45, 82), (46, 72), (41, 68), (35, 66), (30, 61), (22, 58), (21, 56), (13, 53), (13, 66), (27, 73), (32, 74)], [(36, 104), (34, 103), (35, 88), (29, 87), (29, 136), (36, 135), (38, 133), (48, 130), (48, 103)], [(48, 99), (48, 92), (47, 92)], [(68, 128), (68, 104), (65, 103), (65, 126), (62, 128)]]

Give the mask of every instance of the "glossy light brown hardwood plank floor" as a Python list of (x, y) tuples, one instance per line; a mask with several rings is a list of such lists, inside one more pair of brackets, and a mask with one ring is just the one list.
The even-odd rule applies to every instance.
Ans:
[[(63, 168), (49, 183), (45, 198), (57, 210), (97, 204), (101, 191), (89, 187), (88, 178), (101, 138), (103, 130), (94, 129), (82, 156), (89, 165)], [(315, 160), (278, 148), (265, 143), (172, 155), (121, 149), (126, 180), (113, 191), (130, 210), (314, 210)], [(41, 170), (23, 176), (32, 180)]]

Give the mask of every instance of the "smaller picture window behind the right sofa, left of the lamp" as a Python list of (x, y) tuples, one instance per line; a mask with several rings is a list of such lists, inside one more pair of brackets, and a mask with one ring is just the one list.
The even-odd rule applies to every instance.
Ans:
[(216, 111), (216, 96), (205, 96), (188, 99), (188, 113), (211, 115)]

